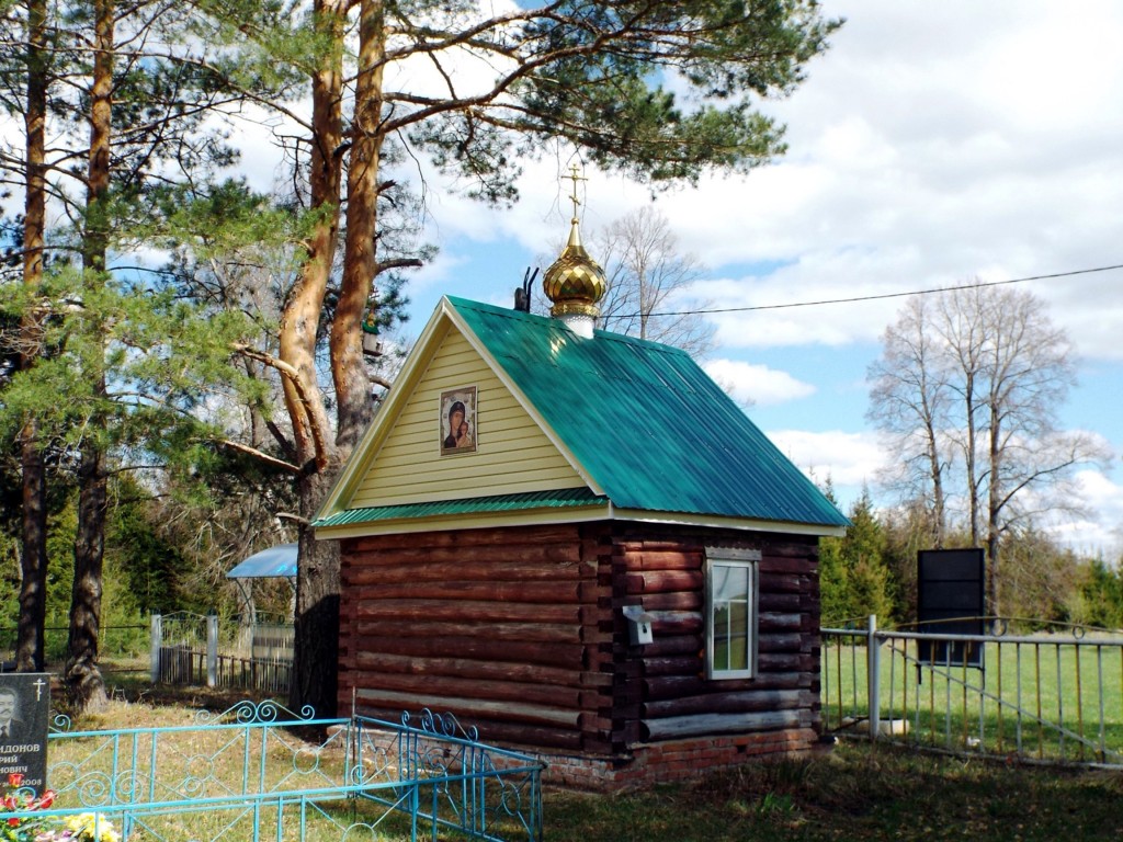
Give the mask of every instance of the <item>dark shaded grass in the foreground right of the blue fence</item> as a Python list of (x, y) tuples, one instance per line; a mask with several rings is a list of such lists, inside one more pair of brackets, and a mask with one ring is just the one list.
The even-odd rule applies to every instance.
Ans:
[(1123, 772), (1007, 766), (844, 742), (699, 782), (615, 796), (550, 793), (549, 842), (1123, 836)]

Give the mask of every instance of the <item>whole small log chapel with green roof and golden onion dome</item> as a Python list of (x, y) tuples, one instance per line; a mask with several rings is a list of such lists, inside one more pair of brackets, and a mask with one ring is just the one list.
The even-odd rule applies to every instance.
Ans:
[(550, 318), (442, 299), (317, 516), (339, 707), (450, 712), (581, 788), (807, 751), (848, 521), (687, 354), (595, 329), (573, 201)]

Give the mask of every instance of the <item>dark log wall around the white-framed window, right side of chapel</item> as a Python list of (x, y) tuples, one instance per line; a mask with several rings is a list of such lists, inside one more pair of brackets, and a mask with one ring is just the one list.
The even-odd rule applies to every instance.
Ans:
[[(758, 675), (706, 680), (705, 547), (760, 550)], [(659, 741), (705, 734), (818, 729), (818, 540), (718, 532), (632, 532), (614, 546), (626, 604), (654, 615), (654, 642), (638, 649), (639, 735)]]

